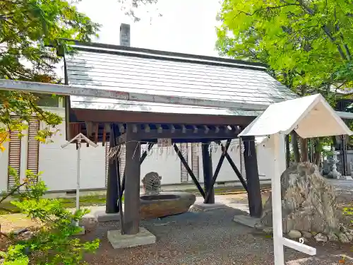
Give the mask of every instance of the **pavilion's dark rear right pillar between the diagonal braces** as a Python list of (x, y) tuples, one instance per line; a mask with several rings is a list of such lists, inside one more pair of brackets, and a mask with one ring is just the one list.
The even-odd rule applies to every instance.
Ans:
[[(212, 155), (210, 153), (210, 143), (203, 143), (202, 145), (202, 163), (203, 163), (203, 184), (205, 185), (205, 192), (208, 192), (212, 185), (213, 168)], [(215, 189), (210, 190), (210, 196), (205, 204), (215, 203)]]

